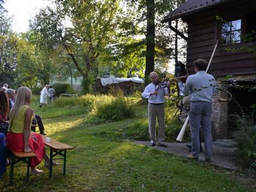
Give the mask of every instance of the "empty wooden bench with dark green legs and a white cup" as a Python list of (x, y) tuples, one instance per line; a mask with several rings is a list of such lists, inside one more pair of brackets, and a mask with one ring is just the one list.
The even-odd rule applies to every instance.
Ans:
[(45, 141), (44, 137), (44, 144), (50, 148), (50, 162), (49, 162), (49, 177), (52, 177), (52, 160), (56, 155), (61, 155), (63, 158), (63, 176), (66, 175), (66, 151), (73, 150), (74, 147), (70, 145), (61, 143), (56, 141), (55, 139), (51, 138), (51, 141)]

